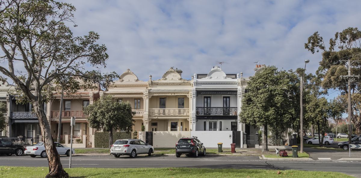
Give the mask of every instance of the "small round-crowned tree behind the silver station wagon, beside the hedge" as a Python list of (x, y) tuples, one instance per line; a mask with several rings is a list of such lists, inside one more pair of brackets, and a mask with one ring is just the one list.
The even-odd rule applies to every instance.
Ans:
[(109, 132), (109, 148), (113, 144), (113, 129), (125, 130), (127, 133), (133, 131), (135, 112), (132, 111), (131, 104), (117, 102), (110, 95), (84, 107), (84, 114), (88, 115), (91, 128)]

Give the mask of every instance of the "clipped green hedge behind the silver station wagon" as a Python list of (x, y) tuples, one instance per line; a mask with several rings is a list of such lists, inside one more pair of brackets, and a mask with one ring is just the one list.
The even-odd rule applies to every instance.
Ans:
[[(131, 139), (131, 134), (126, 132), (113, 132), (113, 141), (118, 139)], [(95, 132), (95, 148), (109, 148), (109, 132)]]

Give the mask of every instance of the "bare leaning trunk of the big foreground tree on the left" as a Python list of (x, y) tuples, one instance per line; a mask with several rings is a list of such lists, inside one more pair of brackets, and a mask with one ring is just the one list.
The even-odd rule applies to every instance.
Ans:
[(43, 110), (42, 103), (36, 99), (31, 99), (30, 101), (34, 106), (36, 116), (38, 116), (45, 151), (48, 154), (49, 174), (47, 174), (45, 178), (68, 178), (68, 173), (64, 171), (60, 163), (60, 157), (58, 151), (56, 150), (56, 146), (51, 135), (50, 125)]

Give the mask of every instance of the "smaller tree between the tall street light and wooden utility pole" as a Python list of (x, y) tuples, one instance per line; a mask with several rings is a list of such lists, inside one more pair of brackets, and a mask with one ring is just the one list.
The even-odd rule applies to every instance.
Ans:
[[(325, 135), (326, 129), (329, 127), (329, 119), (334, 120), (342, 116), (343, 108), (341, 104), (332, 99), (327, 101), (325, 97), (317, 98), (315, 95), (309, 98), (306, 104), (305, 119), (313, 125), (317, 125), (318, 134)], [(319, 146), (323, 146), (323, 137), (318, 137)]]

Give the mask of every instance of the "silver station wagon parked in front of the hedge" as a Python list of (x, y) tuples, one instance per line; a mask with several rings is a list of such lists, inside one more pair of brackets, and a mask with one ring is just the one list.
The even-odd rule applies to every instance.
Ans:
[(148, 143), (144, 143), (140, 139), (117, 140), (110, 148), (110, 154), (114, 155), (114, 157), (119, 157), (120, 155), (129, 155), (133, 158), (139, 154), (148, 154), (148, 156), (151, 156), (153, 152), (153, 146), (149, 145)]

